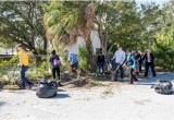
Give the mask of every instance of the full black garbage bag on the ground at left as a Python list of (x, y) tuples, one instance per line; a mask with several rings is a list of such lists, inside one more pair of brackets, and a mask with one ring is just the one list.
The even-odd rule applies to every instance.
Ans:
[(38, 83), (36, 95), (39, 98), (50, 98), (57, 96), (58, 83), (54, 81), (44, 80)]

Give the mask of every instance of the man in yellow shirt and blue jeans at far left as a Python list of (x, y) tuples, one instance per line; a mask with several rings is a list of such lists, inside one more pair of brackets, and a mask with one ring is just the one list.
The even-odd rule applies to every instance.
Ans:
[(28, 55), (23, 50), (21, 44), (16, 46), (16, 49), (18, 51), (20, 67), (21, 67), (21, 74), (20, 74), (21, 85), (20, 85), (20, 88), (25, 89), (25, 84), (27, 84), (29, 86), (29, 88), (32, 88), (34, 83), (25, 77), (25, 72), (28, 70)]

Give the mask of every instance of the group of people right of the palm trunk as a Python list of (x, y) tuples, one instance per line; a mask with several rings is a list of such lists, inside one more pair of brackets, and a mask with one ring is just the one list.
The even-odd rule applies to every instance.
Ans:
[[(99, 72), (102, 73), (104, 70), (104, 56), (102, 53), (99, 53), (98, 56), (98, 68)], [(136, 74), (141, 73), (141, 65), (145, 62), (145, 77), (148, 76), (149, 68), (152, 72), (152, 75), (156, 76), (154, 71), (154, 57), (150, 52), (150, 50), (146, 50), (146, 53), (144, 57), (141, 57), (141, 53), (138, 51), (133, 50), (126, 50), (126, 52), (122, 49), (122, 46), (117, 46), (117, 50), (115, 51), (113, 58), (111, 59), (112, 64), (112, 71), (115, 71), (115, 75), (117, 75), (117, 72), (120, 71), (121, 79), (124, 77), (124, 68), (127, 68), (129, 72), (129, 83), (134, 84), (134, 82), (137, 82)], [(117, 77), (115, 77), (115, 81)]]

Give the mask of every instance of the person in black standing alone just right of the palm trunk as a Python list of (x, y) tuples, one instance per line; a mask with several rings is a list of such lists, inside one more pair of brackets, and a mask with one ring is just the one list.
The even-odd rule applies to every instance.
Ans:
[(99, 73), (103, 73), (104, 72), (104, 62), (105, 62), (105, 58), (104, 56), (100, 52), (97, 59), (97, 63), (98, 63), (98, 68), (99, 68)]

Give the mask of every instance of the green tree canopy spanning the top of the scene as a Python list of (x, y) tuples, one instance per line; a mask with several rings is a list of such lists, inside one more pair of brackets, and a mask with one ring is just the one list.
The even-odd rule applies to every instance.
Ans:
[(1, 1), (0, 46), (20, 43), (34, 53), (46, 53), (48, 40), (55, 46), (72, 45), (82, 36), (94, 56), (90, 33), (96, 31), (105, 56), (120, 44), (125, 49), (151, 49), (159, 63), (173, 63), (173, 12), (172, 1), (163, 5), (135, 1)]

